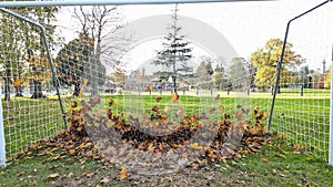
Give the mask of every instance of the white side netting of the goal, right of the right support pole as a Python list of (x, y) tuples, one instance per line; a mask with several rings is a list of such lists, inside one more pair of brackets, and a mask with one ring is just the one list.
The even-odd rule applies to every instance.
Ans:
[[(330, 8), (323, 7), (291, 25), (289, 41), (300, 41), (293, 48), (302, 51), (305, 61), (282, 75), (273, 125), (293, 145), (325, 160), (329, 157), (330, 138)], [(317, 21), (317, 18), (325, 19)]]

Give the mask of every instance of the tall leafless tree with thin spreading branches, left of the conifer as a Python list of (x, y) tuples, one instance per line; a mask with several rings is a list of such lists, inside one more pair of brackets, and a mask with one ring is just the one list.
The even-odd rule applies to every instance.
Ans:
[[(74, 9), (74, 18), (80, 21), (81, 32), (88, 33), (92, 39), (93, 54), (87, 73), (90, 74), (92, 91), (95, 92), (98, 83), (103, 82), (97, 77), (101, 77), (99, 73), (104, 65), (119, 70), (123, 55), (129, 51), (131, 35), (121, 32), (125, 23), (118, 7), (79, 7)], [(101, 55), (108, 56), (103, 61), (105, 64), (101, 63)]]

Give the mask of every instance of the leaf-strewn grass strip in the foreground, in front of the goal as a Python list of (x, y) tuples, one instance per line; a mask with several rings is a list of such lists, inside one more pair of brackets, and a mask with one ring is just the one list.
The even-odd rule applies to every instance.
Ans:
[(332, 166), (295, 152), (280, 139), (240, 160), (200, 170), (181, 168), (168, 175), (128, 173), (124, 180), (118, 177), (120, 168), (111, 164), (80, 162), (71, 156), (47, 160), (50, 156), (31, 154), (0, 168), (0, 186), (333, 186)]

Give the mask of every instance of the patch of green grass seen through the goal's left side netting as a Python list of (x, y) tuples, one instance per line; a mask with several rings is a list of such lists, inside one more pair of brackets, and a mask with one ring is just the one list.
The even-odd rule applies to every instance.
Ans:
[(27, 144), (50, 137), (63, 128), (57, 100), (30, 100), (18, 97), (2, 102), (6, 152), (8, 158), (24, 149)]

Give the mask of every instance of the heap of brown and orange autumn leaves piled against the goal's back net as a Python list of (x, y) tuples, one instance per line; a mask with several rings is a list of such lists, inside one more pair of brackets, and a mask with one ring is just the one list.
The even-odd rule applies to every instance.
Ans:
[(114, 103), (110, 98), (109, 108), (100, 107), (99, 95), (88, 102), (73, 102), (67, 129), (31, 144), (26, 153), (50, 155), (49, 160), (70, 155), (80, 162), (113, 163), (121, 167), (118, 178), (123, 180), (128, 172), (161, 175), (182, 167), (199, 169), (210, 163), (240, 159), (270, 143), (270, 134), (262, 123), (268, 114), (258, 107), (249, 116), (250, 110), (239, 105), (232, 115), (224, 114), (218, 121), (213, 114), (223, 113), (223, 105), (196, 115), (185, 114), (179, 106), (181, 112), (175, 114), (179, 116), (175, 123), (169, 121), (169, 111), (158, 106), (141, 121), (130, 114), (125, 118), (123, 113), (112, 110)]

